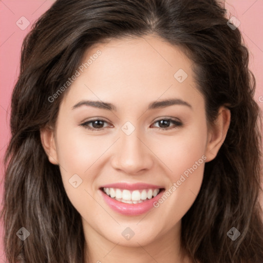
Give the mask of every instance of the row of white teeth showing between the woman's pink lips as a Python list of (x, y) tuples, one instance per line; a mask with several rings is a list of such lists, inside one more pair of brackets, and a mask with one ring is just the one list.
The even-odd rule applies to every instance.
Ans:
[(127, 204), (138, 204), (153, 199), (158, 194), (163, 192), (164, 188), (137, 189), (131, 191), (113, 187), (101, 187), (100, 190), (116, 201)]

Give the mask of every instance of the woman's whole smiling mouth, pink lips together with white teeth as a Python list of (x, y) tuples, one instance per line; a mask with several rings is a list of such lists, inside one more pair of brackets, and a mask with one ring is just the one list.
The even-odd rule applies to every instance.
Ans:
[(140, 215), (152, 209), (164, 191), (163, 186), (146, 183), (115, 183), (100, 187), (111, 209), (124, 215)]

